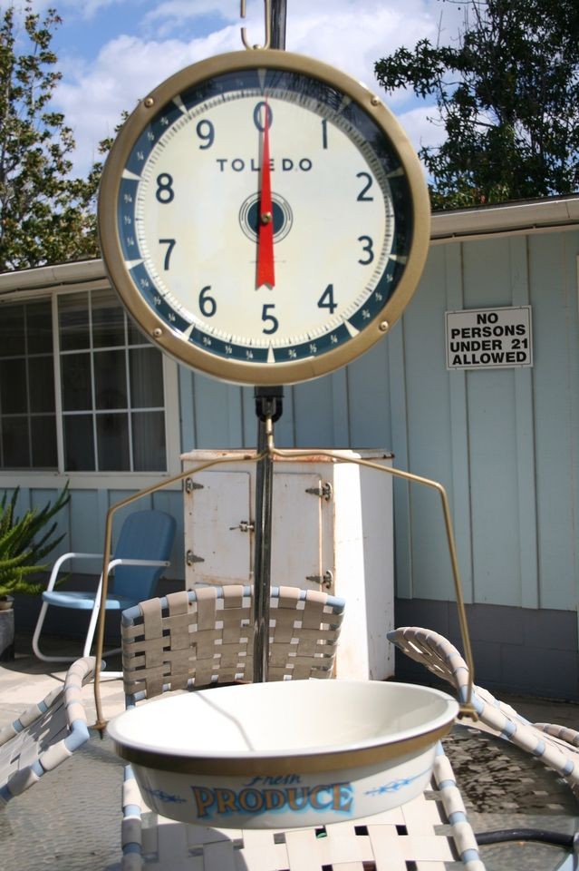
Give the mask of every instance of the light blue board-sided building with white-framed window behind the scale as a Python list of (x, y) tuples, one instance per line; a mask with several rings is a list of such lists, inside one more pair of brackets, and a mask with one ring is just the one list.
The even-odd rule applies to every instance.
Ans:
[[(444, 484), (478, 680), (575, 700), (578, 262), (579, 196), (434, 215), (403, 318), (351, 367), (286, 388), (275, 429), (279, 446), (391, 450), (394, 465)], [(448, 358), (448, 312), (493, 324), (502, 309), (527, 318), (524, 359), (497, 365), (492, 345), (476, 357), (466, 316)], [(24, 507), (69, 481), (63, 550), (99, 550), (108, 505), (179, 472), (181, 453), (256, 443), (253, 391), (162, 358), (100, 260), (0, 275), (0, 336), (0, 487), (20, 485)], [(153, 501), (179, 521), (169, 581), (180, 585), (180, 488)], [(458, 640), (434, 494), (395, 483), (394, 541), (396, 624)]]

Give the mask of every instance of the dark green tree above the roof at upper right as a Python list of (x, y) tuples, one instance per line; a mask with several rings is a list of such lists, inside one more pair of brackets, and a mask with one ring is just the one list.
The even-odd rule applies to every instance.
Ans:
[[(444, 0), (443, 0), (444, 2)], [(579, 187), (579, 3), (466, 0), (450, 45), (420, 40), (375, 64), (391, 93), (435, 98), (446, 138), (420, 149), (434, 208)]]

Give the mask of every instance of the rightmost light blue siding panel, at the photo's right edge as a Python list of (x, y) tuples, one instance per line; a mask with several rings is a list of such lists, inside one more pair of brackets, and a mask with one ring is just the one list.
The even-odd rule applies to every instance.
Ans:
[(540, 604), (576, 607), (577, 233), (536, 236), (529, 275), (535, 338), (537, 536)]

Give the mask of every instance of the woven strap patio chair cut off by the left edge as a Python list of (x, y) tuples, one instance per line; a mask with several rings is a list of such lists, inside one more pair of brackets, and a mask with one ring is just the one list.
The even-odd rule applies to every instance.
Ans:
[(81, 700), (92, 679), (94, 657), (77, 660), (63, 687), (55, 687), (9, 726), (0, 729), (0, 807), (34, 786), (89, 739)]

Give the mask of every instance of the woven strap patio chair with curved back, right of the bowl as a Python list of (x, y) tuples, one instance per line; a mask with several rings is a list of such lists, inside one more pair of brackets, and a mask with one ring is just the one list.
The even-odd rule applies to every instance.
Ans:
[[(438, 632), (406, 626), (388, 633), (388, 638), (410, 659), (426, 666), (438, 678), (447, 680), (465, 701), (469, 673), (467, 663), (450, 641)], [(472, 702), (480, 723), (500, 738), (540, 758), (549, 768), (565, 778), (579, 796), (579, 733), (550, 723), (529, 722), (510, 705), (497, 700), (490, 692), (475, 686)], [(473, 724), (477, 726), (477, 723)]]

